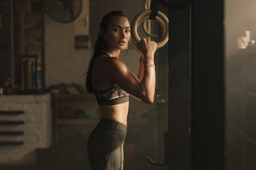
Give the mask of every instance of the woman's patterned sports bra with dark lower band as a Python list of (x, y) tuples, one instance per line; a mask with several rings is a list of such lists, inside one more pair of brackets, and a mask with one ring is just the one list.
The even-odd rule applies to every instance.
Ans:
[[(107, 55), (101, 53), (100, 55)], [(110, 57), (110, 55), (107, 55)], [(105, 91), (97, 91), (94, 89), (97, 103), (102, 106), (112, 106), (129, 101), (129, 94), (121, 89), (118, 85), (113, 86), (111, 89)]]

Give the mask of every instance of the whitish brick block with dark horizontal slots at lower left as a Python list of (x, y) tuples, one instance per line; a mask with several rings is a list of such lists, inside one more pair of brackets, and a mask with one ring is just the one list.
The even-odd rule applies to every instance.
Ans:
[(23, 135), (0, 135), (0, 141), (23, 141), (23, 145), (0, 145), (0, 166), (36, 165), (38, 147), (49, 147), (52, 138), (50, 94), (0, 96), (0, 120), (23, 120), (23, 125), (0, 125), (0, 131), (23, 131)]

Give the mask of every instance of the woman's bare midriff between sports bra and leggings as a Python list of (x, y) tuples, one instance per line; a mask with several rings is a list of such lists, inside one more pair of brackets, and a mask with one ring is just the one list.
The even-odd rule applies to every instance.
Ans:
[(100, 108), (100, 116), (102, 118), (107, 118), (107, 119), (122, 123), (124, 125), (127, 125), (129, 102), (112, 105), (112, 106), (99, 105), (99, 108)]

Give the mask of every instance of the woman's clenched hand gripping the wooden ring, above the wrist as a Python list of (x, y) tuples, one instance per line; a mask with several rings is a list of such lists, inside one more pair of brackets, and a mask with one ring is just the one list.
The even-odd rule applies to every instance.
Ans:
[(142, 59), (145, 57), (154, 58), (154, 53), (156, 52), (156, 42), (151, 40), (146, 40), (143, 38), (139, 44), (137, 44), (137, 52)]

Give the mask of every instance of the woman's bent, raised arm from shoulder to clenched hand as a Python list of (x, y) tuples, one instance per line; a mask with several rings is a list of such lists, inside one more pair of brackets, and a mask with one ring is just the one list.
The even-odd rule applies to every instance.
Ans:
[[(144, 56), (145, 64), (154, 64), (154, 52), (156, 51), (156, 42), (142, 40), (138, 45), (138, 50)], [(144, 67), (141, 65), (140, 67)], [(105, 63), (107, 77), (118, 84), (124, 91), (138, 98), (145, 103), (154, 102), (154, 91), (156, 84), (156, 75), (154, 67), (144, 67), (143, 77), (139, 77), (141, 81), (132, 72), (127, 69), (125, 64), (117, 58), (112, 58)], [(141, 68), (142, 71), (143, 68)], [(139, 74), (139, 76), (142, 76)]]

